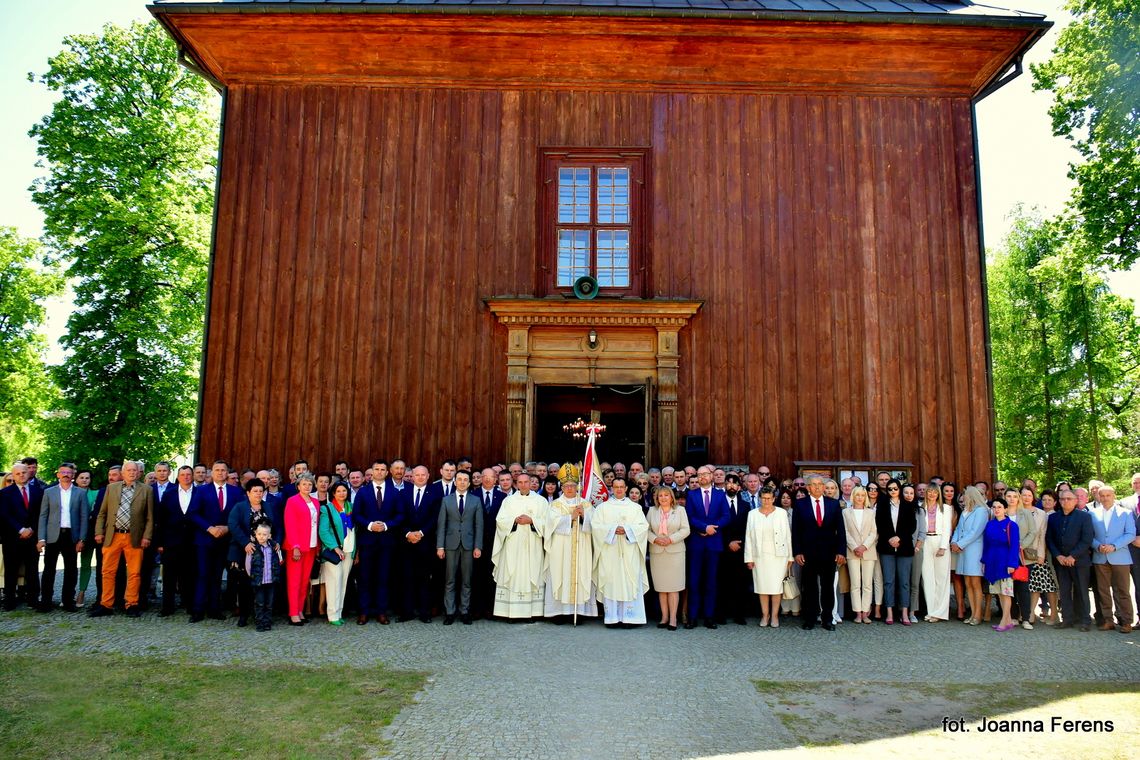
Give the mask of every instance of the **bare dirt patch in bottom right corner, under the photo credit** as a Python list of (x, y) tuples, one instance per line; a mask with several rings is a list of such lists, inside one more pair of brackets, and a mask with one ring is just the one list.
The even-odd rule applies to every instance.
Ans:
[[(800, 746), (742, 757), (1109, 758), (1140, 757), (1140, 684), (779, 684), (762, 698)], [(1062, 721), (1101, 721), (1077, 726)], [(952, 730), (944, 719), (955, 721)], [(996, 726), (983, 719), (1041, 721)], [(959, 722), (960, 721), (960, 722)], [(1107, 730), (1112, 721), (1113, 730)], [(1020, 728), (1021, 730), (1018, 730)]]

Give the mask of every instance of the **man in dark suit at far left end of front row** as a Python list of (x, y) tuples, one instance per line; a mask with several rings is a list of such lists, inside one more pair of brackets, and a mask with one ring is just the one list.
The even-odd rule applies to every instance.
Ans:
[(40, 600), (40, 553), (35, 548), (35, 529), (40, 521), (41, 491), (31, 482), (27, 465), (11, 466), (11, 485), (0, 490), (0, 541), (3, 544), (5, 610), (19, 604), (16, 585), (24, 571), (24, 600), (34, 607)]

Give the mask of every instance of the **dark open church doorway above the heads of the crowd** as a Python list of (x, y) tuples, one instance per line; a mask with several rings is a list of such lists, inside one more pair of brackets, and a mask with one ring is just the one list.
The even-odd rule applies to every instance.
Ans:
[(535, 459), (538, 461), (580, 461), (586, 439), (573, 438), (563, 425), (581, 417), (605, 425), (597, 439), (601, 461), (645, 461), (645, 386), (538, 385), (535, 387)]

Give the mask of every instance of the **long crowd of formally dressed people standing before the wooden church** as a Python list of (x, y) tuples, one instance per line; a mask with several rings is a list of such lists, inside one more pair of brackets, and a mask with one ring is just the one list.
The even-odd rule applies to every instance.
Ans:
[(284, 477), (128, 460), (96, 488), (71, 463), (48, 484), (28, 457), (0, 476), (3, 608), (137, 618), (154, 605), (260, 631), (350, 613), (360, 626), (601, 616), (669, 630), (779, 628), (789, 615), (828, 631), (1140, 624), (1140, 473), (1117, 500), (1099, 481), (1039, 492), (1032, 480), (959, 488), (888, 472), (868, 483), (777, 481), (764, 466), (601, 472), (604, 500), (584, 498), (575, 465), (467, 459), (435, 479), (399, 459), (328, 473), (300, 460)]

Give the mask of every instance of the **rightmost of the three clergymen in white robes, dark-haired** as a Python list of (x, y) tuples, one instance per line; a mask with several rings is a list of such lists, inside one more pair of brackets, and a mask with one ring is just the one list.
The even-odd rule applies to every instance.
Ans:
[(645, 547), (649, 522), (641, 505), (626, 498), (616, 477), (613, 498), (594, 509), (594, 579), (610, 628), (645, 624)]

